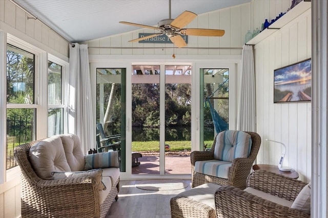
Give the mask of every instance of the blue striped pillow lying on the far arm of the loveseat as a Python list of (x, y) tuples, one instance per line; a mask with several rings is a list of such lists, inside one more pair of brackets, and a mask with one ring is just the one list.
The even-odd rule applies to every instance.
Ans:
[(89, 154), (85, 156), (85, 159), (86, 164), (84, 167), (86, 171), (97, 168), (119, 167), (118, 151)]

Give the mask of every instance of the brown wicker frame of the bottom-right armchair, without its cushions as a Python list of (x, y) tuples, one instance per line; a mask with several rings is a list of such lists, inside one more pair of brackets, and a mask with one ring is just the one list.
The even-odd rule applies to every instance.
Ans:
[[(267, 172), (254, 171), (247, 180), (247, 187), (293, 202), (305, 182)], [(252, 195), (239, 188), (223, 185), (215, 192), (217, 217), (311, 217), (311, 214), (282, 206)]]

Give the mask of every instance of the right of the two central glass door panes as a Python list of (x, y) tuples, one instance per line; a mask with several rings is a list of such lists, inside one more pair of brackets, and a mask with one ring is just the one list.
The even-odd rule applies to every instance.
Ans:
[(165, 66), (165, 174), (190, 174), (191, 66)]

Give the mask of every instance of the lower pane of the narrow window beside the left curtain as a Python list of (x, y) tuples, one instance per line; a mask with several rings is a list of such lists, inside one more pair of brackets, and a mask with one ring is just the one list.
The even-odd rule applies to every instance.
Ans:
[(49, 108), (48, 109), (48, 137), (63, 134), (64, 109)]

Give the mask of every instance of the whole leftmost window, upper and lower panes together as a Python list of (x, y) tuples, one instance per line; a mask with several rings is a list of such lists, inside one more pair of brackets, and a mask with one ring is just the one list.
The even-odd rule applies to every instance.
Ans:
[(17, 165), (13, 158), (14, 148), (36, 136), (34, 63), (34, 54), (7, 45), (6, 169)]

